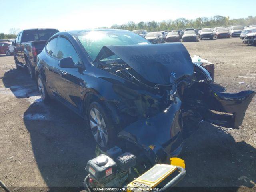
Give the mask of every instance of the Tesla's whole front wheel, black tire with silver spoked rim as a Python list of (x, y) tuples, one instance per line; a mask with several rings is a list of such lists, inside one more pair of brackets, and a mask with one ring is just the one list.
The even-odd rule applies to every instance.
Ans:
[(87, 110), (87, 116), (92, 136), (98, 146), (104, 151), (113, 147), (117, 139), (117, 131), (106, 108), (98, 102), (92, 102)]

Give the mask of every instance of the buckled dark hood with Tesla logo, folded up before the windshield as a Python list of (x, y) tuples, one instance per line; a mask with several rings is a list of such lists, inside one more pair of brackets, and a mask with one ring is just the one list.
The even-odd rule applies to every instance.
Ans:
[(112, 55), (155, 84), (172, 84), (194, 72), (190, 55), (181, 43), (104, 46), (94, 62)]

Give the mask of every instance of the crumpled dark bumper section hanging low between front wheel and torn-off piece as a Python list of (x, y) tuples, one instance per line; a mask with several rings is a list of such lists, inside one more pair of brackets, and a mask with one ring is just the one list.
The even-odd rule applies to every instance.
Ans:
[(152, 163), (177, 156), (182, 150), (181, 101), (176, 98), (166, 112), (152, 118), (138, 120), (118, 133), (118, 137), (132, 142), (154, 157)]

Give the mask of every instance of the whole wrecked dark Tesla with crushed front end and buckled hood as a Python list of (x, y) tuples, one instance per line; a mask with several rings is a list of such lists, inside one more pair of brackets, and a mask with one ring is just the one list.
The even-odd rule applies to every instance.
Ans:
[(154, 162), (178, 155), (201, 120), (238, 128), (255, 94), (218, 92), (181, 43), (151, 44), (126, 30), (54, 34), (36, 77), (42, 99), (82, 116), (102, 149), (122, 140)]

